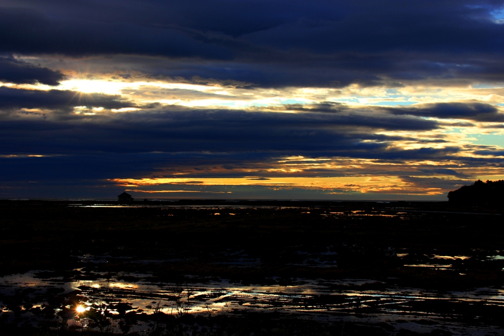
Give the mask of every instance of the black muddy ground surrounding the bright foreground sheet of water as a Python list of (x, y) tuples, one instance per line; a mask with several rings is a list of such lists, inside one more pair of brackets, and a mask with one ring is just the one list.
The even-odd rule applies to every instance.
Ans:
[[(91, 288), (9, 292), (4, 284), (0, 335), (140, 333), (140, 327), (135, 330), (139, 321), (144, 321), (143, 334), (444, 335), (454, 332), (442, 324), (419, 332), (376, 321), (328, 322), (260, 309), (196, 314), (187, 284), (226, 279), (240, 286), (288, 287), (300, 279), (317, 279), (341, 292), (335, 281), (368, 279), (359, 286), (375, 292), (400, 287), (429, 293), (504, 285), (503, 211), (498, 208), (425, 202), (184, 201), (130, 207), (71, 203), (0, 201), (0, 276), (38, 270), (38, 278), (60, 282), (109, 278), (131, 284), (179, 284), (180, 295), (165, 298), (174, 308), (168, 314), (156, 301), (149, 312), (135, 309), (131, 302), (110, 303), (106, 309), (88, 303), (90, 309), (82, 315), (86, 323), (72, 324), (67, 320), (75, 319), (76, 305), (85, 301), (82, 293)], [(310, 300), (320, 301), (310, 303), (313, 307), (334, 306), (323, 302), (326, 296)], [(376, 316), (372, 305), (361, 305)], [(435, 314), (458, 318), (462, 324), (477, 320), (476, 329), (492, 326), (481, 334), (504, 334), (503, 307), (489, 308), (484, 302), (476, 306), (438, 305), (435, 309), (442, 311)], [(366, 314), (365, 309), (359, 314)], [(435, 309), (417, 310), (428, 314)], [(423, 321), (419, 324), (434, 323)]]

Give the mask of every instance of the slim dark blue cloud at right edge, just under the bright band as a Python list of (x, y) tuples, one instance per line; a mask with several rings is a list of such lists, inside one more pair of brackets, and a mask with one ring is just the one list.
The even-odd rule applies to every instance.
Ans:
[(477, 122), (504, 122), (504, 114), (491, 104), (480, 102), (450, 102), (422, 104), (420, 106), (387, 108), (394, 115), (467, 119)]

